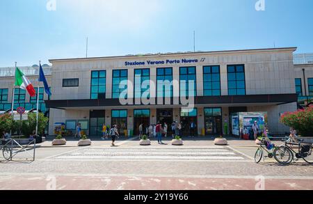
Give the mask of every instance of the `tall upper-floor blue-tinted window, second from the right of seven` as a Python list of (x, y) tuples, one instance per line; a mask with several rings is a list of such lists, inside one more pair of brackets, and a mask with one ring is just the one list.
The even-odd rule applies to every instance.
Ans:
[(220, 95), (220, 66), (203, 67), (203, 95)]

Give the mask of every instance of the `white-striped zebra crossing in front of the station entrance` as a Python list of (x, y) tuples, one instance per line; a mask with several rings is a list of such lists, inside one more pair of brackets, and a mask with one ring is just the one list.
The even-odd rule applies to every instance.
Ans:
[(248, 158), (225, 146), (205, 147), (88, 147), (57, 155), (51, 160), (74, 161), (185, 161), (248, 162)]

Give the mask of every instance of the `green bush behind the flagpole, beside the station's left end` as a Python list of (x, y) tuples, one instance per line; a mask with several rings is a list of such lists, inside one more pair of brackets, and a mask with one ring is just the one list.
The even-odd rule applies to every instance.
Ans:
[[(45, 132), (48, 121), (49, 118), (45, 117), (44, 113), (38, 113), (38, 134)], [(29, 120), (24, 120), (22, 123), (22, 132), (29, 136), (34, 130), (36, 130), (36, 113), (29, 113)]]

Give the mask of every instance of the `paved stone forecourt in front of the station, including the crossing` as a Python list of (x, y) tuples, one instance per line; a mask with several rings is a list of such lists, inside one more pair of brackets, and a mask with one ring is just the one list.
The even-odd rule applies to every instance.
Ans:
[[(44, 147), (35, 162), (1, 162), (0, 189), (313, 189), (313, 166), (282, 166), (273, 160), (255, 164), (252, 142), (186, 141), (185, 146), (138, 146), (138, 141), (109, 141), (96, 146)], [(52, 179), (53, 180), (53, 179)], [(17, 183), (19, 181), (19, 183)], [(108, 183), (109, 182), (109, 183)]]

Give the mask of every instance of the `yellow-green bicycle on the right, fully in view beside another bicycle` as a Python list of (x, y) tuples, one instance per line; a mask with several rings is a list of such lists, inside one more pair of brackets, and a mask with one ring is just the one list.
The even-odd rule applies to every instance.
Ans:
[[(285, 151), (284, 147), (282, 147), (282, 146), (275, 146), (274, 144), (271, 144), (271, 149), (269, 149), (268, 148), (268, 141), (266, 141), (266, 139), (263, 138), (262, 141), (260, 141), (260, 142), (261, 143), (259, 145), (259, 148), (257, 148), (257, 152), (255, 152), (255, 163), (257, 163), (257, 164), (259, 164), (259, 162), (261, 162), (262, 158), (265, 159), (265, 157), (268, 157), (270, 159), (274, 157), (274, 159), (275, 159), (276, 157), (278, 157), (277, 154), (283, 155), (283, 156), (287, 155), (287, 153), (284, 152)], [(268, 155), (263, 157), (264, 150), (265, 150), (265, 152), (267, 152)], [(272, 150), (272, 151), (270, 152), (270, 150)], [(288, 151), (288, 150), (286, 150), (286, 151)], [(284, 154), (282, 154), (282, 152), (284, 152)], [(280, 161), (282, 161), (283, 163), (289, 162), (290, 157), (292, 157), (292, 152), (288, 152), (288, 157), (287, 157), (287, 159), (285, 159), (286, 161), (282, 161), (282, 159), (283, 159), (282, 157), (280, 158), (281, 159)], [(278, 161), (278, 160), (276, 159), (276, 161)]]

